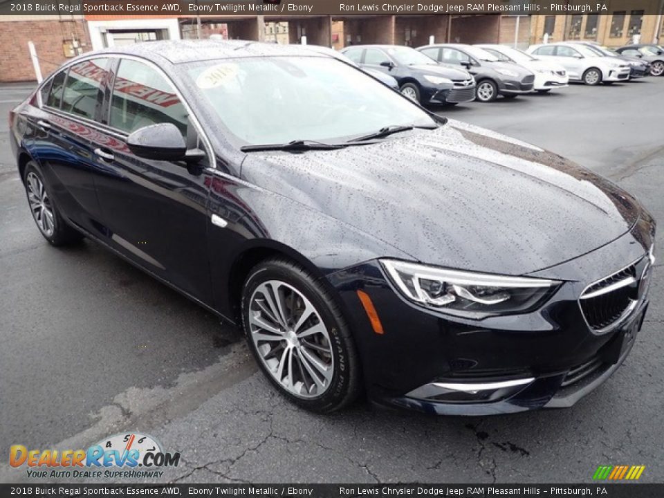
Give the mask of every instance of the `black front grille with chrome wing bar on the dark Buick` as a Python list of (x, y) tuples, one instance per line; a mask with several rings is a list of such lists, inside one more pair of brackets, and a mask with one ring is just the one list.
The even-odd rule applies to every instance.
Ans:
[(632, 264), (586, 288), (579, 302), (591, 328), (602, 331), (620, 320), (637, 298), (636, 264)]

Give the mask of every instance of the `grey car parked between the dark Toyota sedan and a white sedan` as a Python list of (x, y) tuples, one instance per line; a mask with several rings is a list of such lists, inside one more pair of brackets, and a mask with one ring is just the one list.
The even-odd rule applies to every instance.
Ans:
[(477, 82), (477, 100), (493, 102), (498, 95), (515, 98), (519, 93), (531, 93), (535, 82), (532, 71), (519, 66), (500, 62), (499, 59), (482, 48), (463, 44), (439, 44), (421, 46), (419, 50), (441, 64), (463, 66)]

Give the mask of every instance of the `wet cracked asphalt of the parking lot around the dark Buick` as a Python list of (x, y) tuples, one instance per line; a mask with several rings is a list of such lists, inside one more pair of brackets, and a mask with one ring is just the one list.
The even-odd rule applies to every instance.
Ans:
[[(0, 86), (0, 116), (29, 84)], [(664, 77), (438, 109), (569, 156), (664, 220)], [(591, 482), (598, 465), (664, 481), (664, 230), (643, 330), (571, 409), (434, 417), (360, 401), (317, 416), (257, 371), (241, 333), (95, 243), (37, 232), (0, 121), (0, 481), (8, 447), (151, 434), (181, 465), (158, 482)]]

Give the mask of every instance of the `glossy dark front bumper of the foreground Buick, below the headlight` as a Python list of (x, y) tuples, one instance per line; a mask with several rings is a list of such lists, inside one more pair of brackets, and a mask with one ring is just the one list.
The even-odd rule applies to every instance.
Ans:
[[(640, 225), (640, 226), (638, 226)], [(422, 308), (396, 293), (378, 261), (328, 276), (344, 302), (376, 403), (436, 414), (487, 415), (571, 406), (623, 362), (647, 311), (640, 297), (620, 326), (593, 331), (579, 296), (625, 261), (645, 258), (647, 223), (588, 255), (533, 276), (566, 280), (542, 308), (469, 320)], [(374, 333), (356, 291), (373, 302)]]

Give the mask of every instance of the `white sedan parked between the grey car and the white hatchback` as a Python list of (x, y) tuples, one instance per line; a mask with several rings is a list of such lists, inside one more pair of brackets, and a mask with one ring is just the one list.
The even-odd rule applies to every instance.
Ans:
[(523, 50), (497, 44), (479, 44), (488, 53), (495, 55), (501, 62), (512, 62), (518, 64), (533, 74), (535, 82), (533, 89), (540, 93), (546, 93), (554, 88), (564, 88), (569, 77), (563, 66), (553, 61), (537, 59), (534, 55), (525, 53)]

